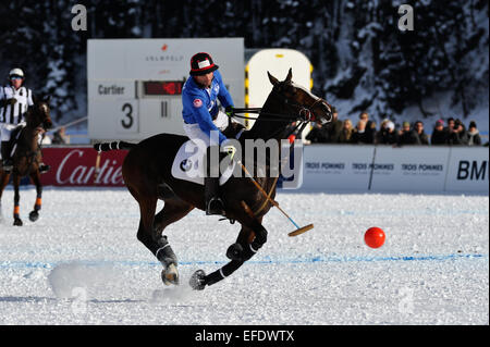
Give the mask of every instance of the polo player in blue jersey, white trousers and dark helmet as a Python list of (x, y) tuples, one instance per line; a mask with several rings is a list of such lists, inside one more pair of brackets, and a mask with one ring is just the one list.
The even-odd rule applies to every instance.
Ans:
[[(189, 74), (191, 78), (182, 90), (184, 131), (197, 146), (205, 144), (207, 147), (206, 214), (223, 214), (224, 203), (219, 195), (219, 173), (211, 174), (210, 152), (218, 151), (221, 145), (231, 158), (236, 151), (231, 144), (228, 144), (226, 136), (222, 133), (229, 125), (226, 114), (233, 110), (233, 100), (223, 84), (218, 65), (208, 53), (193, 55)], [(217, 99), (225, 108), (226, 114), (220, 110)], [(212, 132), (216, 132), (218, 136), (211, 136)]]

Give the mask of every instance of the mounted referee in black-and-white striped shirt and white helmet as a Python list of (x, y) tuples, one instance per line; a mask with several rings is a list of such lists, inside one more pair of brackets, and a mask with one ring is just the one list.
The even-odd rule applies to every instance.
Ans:
[[(27, 110), (34, 106), (33, 91), (23, 86), (24, 79), (24, 72), (16, 67), (9, 73), (9, 85), (0, 87), (0, 157), (5, 172), (13, 169), (12, 152), (16, 139), (12, 138), (12, 133), (26, 125)], [(39, 164), (39, 172), (48, 170), (48, 165)]]

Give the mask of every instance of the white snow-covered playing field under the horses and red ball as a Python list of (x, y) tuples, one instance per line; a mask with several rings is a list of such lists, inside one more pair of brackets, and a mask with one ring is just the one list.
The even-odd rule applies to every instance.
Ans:
[[(188, 278), (226, 262), (238, 225), (195, 210), (166, 231), (181, 285), (136, 239), (139, 212), (125, 189), (45, 188), (41, 216), (13, 191), (0, 222), (0, 324), (489, 324), (489, 197), (280, 193), (268, 243), (224, 281), (193, 292)], [(160, 203), (161, 206), (161, 203)], [(379, 226), (387, 243), (364, 244)]]

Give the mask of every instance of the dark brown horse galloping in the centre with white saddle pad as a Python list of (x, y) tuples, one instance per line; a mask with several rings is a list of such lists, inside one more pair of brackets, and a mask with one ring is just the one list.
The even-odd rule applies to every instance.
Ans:
[[(283, 82), (279, 82), (270, 74), (269, 79), (273, 85), (272, 91), (252, 129), (241, 136), (241, 144), (246, 139), (280, 141), (287, 137), (286, 128), (294, 121), (326, 123), (331, 120), (331, 107), (324, 100), (295, 85), (292, 82), (291, 70)], [(163, 230), (195, 208), (206, 210), (204, 186), (177, 179), (171, 174), (175, 153), (186, 140), (188, 138), (185, 136), (160, 134), (137, 145), (123, 141), (95, 145), (95, 149), (99, 151), (115, 147), (130, 149), (122, 172), (127, 189), (139, 203), (140, 221), (137, 238), (163, 264), (161, 275), (166, 284), (179, 284), (179, 274), (176, 257), (167, 236), (162, 235)], [(255, 177), (255, 179), (266, 191), (270, 191), (273, 199), (277, 178)], [(191, 278), (191, 286), (194, 289), (204, 289), (206, 285), (229, 276), (250, 259), (267, 240), (267, 231), (261, 221), (272, 205), (252, 179), (232, 176), (220, 189), (225, 205), (225, 218), (237, 221), (242, 230), (236, 243), (226, 251), (231, 261), (209, 275), (201, 270), (195, 272)], [(155, 214), (158, 199), (164, 200), (164, 206)]]

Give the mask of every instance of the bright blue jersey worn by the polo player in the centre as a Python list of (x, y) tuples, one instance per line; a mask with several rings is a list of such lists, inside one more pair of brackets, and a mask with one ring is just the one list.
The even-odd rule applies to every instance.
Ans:
[(233, 100), (223, 84), (220, 72), (213, 72), (211, 86), (199, 87), (193, 77), (188, 78), (182, 89), (182, 116), (187, 124), (199, 124), (200, 129), (210, 137), (212, 131), (219, 132), (220, 145), (226, 137), (212, 123), (218, 115), (220, 100), (224, 108), (233, 107)]

